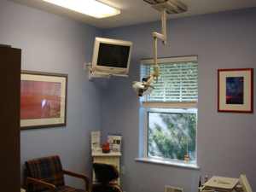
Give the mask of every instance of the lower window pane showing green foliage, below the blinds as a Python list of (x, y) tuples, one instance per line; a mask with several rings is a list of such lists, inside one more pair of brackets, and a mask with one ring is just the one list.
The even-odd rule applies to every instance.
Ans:
[(148, 156), (195, 160), (196, 110), (148, 111)]

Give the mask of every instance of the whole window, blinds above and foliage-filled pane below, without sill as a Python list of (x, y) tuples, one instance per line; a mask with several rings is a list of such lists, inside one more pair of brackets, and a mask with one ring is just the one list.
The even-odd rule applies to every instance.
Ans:
[[(144, 156), (156, 160), (196, 164), (198, 70), (197, 57), (159, 59), (160, 78), (141, 100), (144, 109)], [(141, 78), (153, 71), (153, 61), (143, 60)]]

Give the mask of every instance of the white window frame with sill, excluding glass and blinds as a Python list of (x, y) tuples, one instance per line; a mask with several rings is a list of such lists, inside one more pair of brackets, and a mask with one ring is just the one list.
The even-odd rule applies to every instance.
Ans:
[[(198, 62), (197, 55), (189, 55), (189, 56), (176, 56), (176, 57), (168, 57), (168, 58), (159, 58), (159, 65), (165, 63), (177, 63), (177, 62), (186, 62), (186, 61), (196, 61)], [(141, 65), (152, 65), (154, 61), (152, 59), (143, 59), (141, 61)], [(196, 122), (196, 137), (195, 137), (195, 163), (184, 163), (183, 160), (172, 160), (166, 158), (151, 158), (148, 157), (148, 112), (150, 108), (196, 108), (198, 115), (198, 102), (143, 102), (141, 101), (141, 107), (143, 108), (143, 156), (141, 158), (137, 158), (138, 161), (156, 163), (156, 164), (165, 164), (170, 166), (182, 166), (192, 169), (199, 169), (197, 166), (197, 122)], [(142, 137), (140, 137), (142, 138)]]

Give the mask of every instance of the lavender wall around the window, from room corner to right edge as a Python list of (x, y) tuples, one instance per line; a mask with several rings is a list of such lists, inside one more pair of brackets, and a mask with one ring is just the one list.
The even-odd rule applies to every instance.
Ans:
[(256, 189), (256, 116), (217, 113), (217, 69), (255, 67), (256, 9), (169, 20), (162, 57), (199, 56), (198, 164), (200, 171), (136, 162), (139, 146), (139, 102), (131, 89), (140, 59), (152, 56), (153, 31), (160, 22), (105, 30), (105, 37), (134, 43), (128, 79), (111, 79), (103, 92), (102, 129), (124, 136), (122, 176), (126, 192), (162, 192), (165, 184), (196, 191), (199, 175), (239, 177), (246, 173)]

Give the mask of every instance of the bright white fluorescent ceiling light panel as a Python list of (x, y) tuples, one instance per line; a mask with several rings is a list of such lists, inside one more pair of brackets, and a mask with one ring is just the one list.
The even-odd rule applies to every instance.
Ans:
[(96, 0), (43, 0), (44, 2), (53, 3), (66, 9), (76, 11), (80, 14), (90, 15), (96, 18), (110, 17), (119, 15), (120, 10), (108, 6), (107, 4)]

